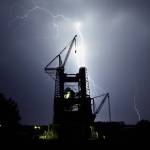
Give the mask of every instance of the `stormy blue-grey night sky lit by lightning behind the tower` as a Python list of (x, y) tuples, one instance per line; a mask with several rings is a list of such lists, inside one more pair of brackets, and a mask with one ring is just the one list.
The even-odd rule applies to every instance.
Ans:
[[(75, 34), (91, 96), (110, 93), (112, 121), (134, 124), (137, 109), (150, 120), (149, 0), (3, 0), (0, 92), (17, 101), (21, 123), (52, 122), (54, 81), (44, 67)], [(107, 104), (97, 120), (108, 120)]]

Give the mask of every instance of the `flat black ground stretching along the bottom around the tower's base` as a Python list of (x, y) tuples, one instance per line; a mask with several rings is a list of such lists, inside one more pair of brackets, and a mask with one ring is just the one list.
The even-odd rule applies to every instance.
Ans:
[(59, 147), (69, 146), (149, 146), (150, 145), (150, 122), (142, 120), (136, 125), (125, 125), (123, 122), (97, 122), (95, 129), (98, 132), (98, 139), (57, 139), (39, 140), (38, 135), (42, 133), (46, 126), (41, 127), (41, 131), (34, 130), (33, 126), (20, 126), (16, 129), (0, 128), (0, 143), (5, 146), (48, 146)]

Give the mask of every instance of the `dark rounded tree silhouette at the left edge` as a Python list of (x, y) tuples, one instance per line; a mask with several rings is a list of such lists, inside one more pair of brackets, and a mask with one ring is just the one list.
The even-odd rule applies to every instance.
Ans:
[(11, 128), (19, 125), (20, 114), (17, 103), (12, 99), (7, 99), (0, 93), (0, 126)]

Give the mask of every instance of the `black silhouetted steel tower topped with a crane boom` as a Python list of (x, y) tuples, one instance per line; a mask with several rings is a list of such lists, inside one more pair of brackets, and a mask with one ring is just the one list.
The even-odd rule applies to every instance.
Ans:
[[(79, 72), (76, 74), (65, 73), (65, 65), (73, 45), (76, 45), (76, 37), (77, 35), (70, 42), (64, 61), (62, 61), (61, 54), (67, 47), (45, 67), (45, 72), (55, 80), (53, 123), (61, 125), (65, 134), (69, 128), (73, 127), (75, 129), (77, 127), (78, 132), (75, 130), (73, 134), (80, 133), (83, 136), (87, 136), (88, 129), (94, 122), (95, 116), (103, 104), (93, 112), (95, 108), (92, 110), (91, 103), (94, 99), (90, 97), (87, 69), (85, 67), (79, 68)], [(51, 67), (56, 60), (58, 60), (58, 67)], [(108, 93), (105, 99), (107, 96)], [(68, 132), (71, 133), (71, 130)]]

